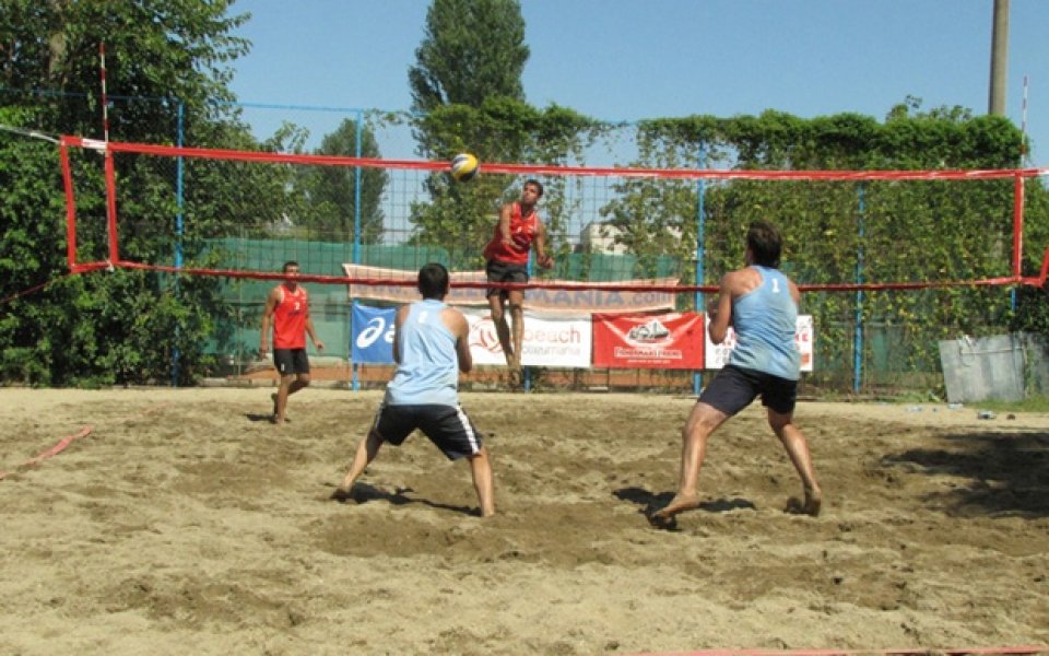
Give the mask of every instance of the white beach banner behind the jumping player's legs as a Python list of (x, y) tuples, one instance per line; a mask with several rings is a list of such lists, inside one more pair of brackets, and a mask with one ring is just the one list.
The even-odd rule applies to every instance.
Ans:
[[(487, 311), (458, 308), (470, 324), (470, 354), (474, 364), (506, 365), (506, 355)], [(512, 323), (510, 324), (512, 326)], [(590, 366), (590, 316), (550, 317), (524, 312), (521, 364), (526, 366)]]

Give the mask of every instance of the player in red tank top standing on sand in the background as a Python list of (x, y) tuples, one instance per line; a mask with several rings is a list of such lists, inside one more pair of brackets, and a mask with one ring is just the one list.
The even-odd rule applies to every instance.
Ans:
[[(298, 273), (298, 262), (285, 262), (284, 273)], [(259, 353), (263, 356), (269, 348), (270, 325), (273, 326), (273, 365), (281, 375), (281, 386), (270, 398), (273, 399), (273, 423), (280, 425), (284, 423), (287, 397), (309, 385), (306, 336), (309, 335), (318, 351), (325, 349), (325, 342), (318, 340), (314, 331), (309, 294), (294, 280), (276, 285), (266, 298), (259, 338)]]

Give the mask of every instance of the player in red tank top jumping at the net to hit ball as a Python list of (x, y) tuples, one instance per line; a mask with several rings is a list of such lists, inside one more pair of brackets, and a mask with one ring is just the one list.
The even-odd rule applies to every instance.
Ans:
[[(553, 266), (554, 258), (546, 253), (546, 229), (535, 211), (542, 196), (543, 186), (539, 180), (527, 180), (520, 200), (508, 202), (499, 210), (495, 233), (484, 247), (488, 282), (528, 282), (528, 256), (532, 248), (535, 249), (540, 267), (549, 269)], [(524, 292), (490, 289), (487, 296), (506, 363), (518, 370), (521, 366), (521, 341), (524, 337)], [(507, 304), (514, 324), (512, 336), (506, 320)]]

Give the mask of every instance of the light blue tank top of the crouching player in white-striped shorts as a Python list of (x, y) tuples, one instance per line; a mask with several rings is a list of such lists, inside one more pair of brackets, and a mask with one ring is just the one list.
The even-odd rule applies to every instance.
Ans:
[(443, 302), (425, 298), (410, 306), (401, 325), (401, 362), (386, 387), (386, 403), (459, 405), (459, 356), (456, 336), (440, 320)]

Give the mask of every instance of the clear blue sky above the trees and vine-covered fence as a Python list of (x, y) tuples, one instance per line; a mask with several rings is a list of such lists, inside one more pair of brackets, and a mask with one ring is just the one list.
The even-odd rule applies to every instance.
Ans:
[[(427, 0), (237, 0), (245, 103), (406, 110)], [(521, 0), (527, 99), (606, 120), (988, 108), (993, 0)], [(1006, 115), (1049, 165), (1049, 1), (1012, 0)], [(259, 137), (279, 115), (251, 113)], [(332, 127), (338, 122), (331, 118)], [(325, 127), (323, 129), (330, 129)], [(387, 156), (412, 156), (410, 153)]]

